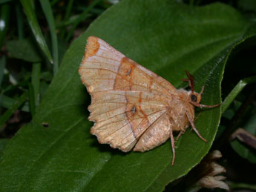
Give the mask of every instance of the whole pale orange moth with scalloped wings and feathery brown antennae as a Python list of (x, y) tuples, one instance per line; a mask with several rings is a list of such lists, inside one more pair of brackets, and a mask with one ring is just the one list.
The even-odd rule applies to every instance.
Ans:
[(171, 138), (175, 160), (174, 131), (177, 139), (194, 125), (194, 107), (217, 107), (200, 104), (200, 93), (194, 91), (194, 78), (186, 72), (191, 90), (176, 89), (156, 73), (142, 67), (95, 36), (88, 38), (85, 56), (79, 67), (82, 83), (91, 94), (91, 112), (94, 122), (91, 134), (102, 144), (144, 152)]

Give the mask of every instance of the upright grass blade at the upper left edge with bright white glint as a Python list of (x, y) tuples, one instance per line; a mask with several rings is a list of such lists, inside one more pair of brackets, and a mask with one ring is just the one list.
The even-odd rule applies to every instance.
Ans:
[(0, 7), (0, 50), (1, 46), (4, 44), (9, 19), (10, 19), (10, 5), (2, 4)]

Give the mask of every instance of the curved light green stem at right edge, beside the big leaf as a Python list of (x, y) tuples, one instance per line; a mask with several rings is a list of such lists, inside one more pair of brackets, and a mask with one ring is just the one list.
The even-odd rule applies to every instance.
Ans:
[(251, 77), (240, 80), (240, 82), (237, 83), (237, 85), (229, 93), (229, 95), (226, 96), (226, 99), (221, 105), (222, 113), (226, 111), (229, 105), (234, 101), (234, 98), (243, 90), (244, 87), (246, 87), (246, 85), (249, 85), (255, 82), (256, 82), (256, 76), (251, 76)]

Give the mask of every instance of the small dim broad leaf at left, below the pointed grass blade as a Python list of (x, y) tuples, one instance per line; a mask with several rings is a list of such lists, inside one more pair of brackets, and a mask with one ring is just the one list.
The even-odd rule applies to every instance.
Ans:
[(23, 59), (27, 62), (40, 62), (42, 60), (30, 39), (13, 40), (7, 42), (7, 50), (10, 56), (16, 59)]

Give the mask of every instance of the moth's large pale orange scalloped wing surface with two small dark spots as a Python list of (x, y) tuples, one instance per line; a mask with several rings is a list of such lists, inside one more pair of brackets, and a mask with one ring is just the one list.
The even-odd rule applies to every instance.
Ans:
[(91, 133), (100, 143), (122, 151), (134, 147), (176, 95), (165, 79), (93, 36), (88, 38), (79, 74), (92, 97)]

